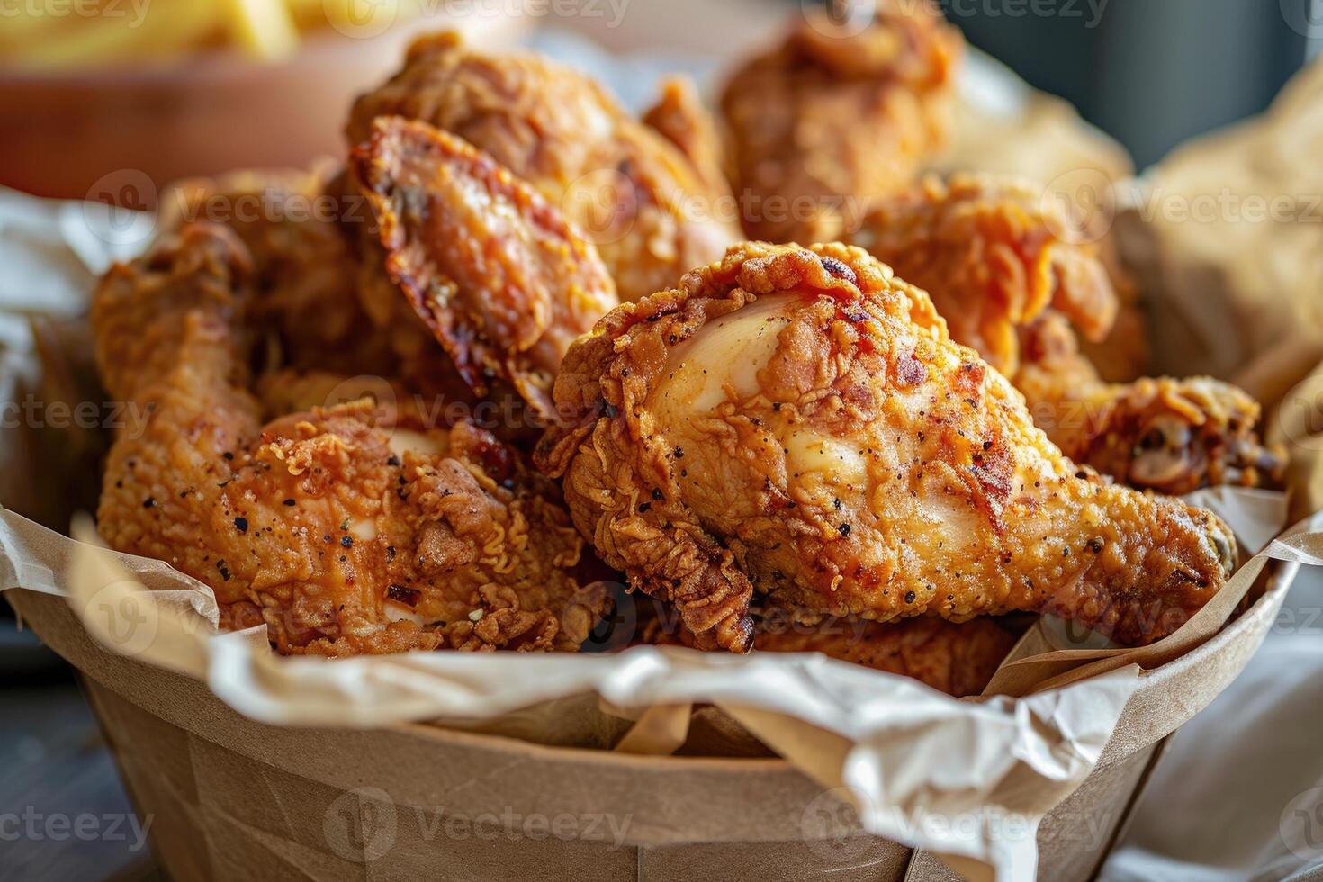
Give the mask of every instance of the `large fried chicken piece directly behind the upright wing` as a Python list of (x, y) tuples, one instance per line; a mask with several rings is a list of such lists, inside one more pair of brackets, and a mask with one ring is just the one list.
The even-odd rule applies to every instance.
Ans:
[(593, 239), (622, 299), (673, 284), (740, 238), (734, 206), (675, 145), (545, 58), (487, 56), (454, 33), (423, 37), (398, 74), (359, 98), (349, 141), (366, 141), (377, 116), (446, 130), (531, 184)]

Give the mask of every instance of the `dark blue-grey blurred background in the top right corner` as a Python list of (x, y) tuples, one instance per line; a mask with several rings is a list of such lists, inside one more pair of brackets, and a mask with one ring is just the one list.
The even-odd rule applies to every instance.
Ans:
[(1262, 111), (1318, 49), (1320, 0), (939, 0), (979, 49), (1061, 95), (1139, 168)]

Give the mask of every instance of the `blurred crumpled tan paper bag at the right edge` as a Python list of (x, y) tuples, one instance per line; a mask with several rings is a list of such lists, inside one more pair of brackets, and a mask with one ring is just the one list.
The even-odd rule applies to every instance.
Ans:
[(1174, 152), (1117, 229), (1155, 327), (1156, 370), (1208, 373), (1263, 402), (1291, 450), (1295, 517), (1323, 505), (1323, 60), (1261, 118)]

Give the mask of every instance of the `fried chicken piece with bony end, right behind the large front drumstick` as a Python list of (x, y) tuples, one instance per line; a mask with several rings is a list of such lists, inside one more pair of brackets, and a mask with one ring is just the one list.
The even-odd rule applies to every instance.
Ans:
[(1259, 442), (1258, 405), (1240, 389), (1207, 377), (1102, 381), (1077, 332), (1105, 337), (1130, 282), (1076, 230), (1058, 200), (1028, 184), (958, 175), (884, 200), (847, 239), (925, 288), (951, 337), (1012, 378), (1076, 463), (1171, 495), (1278, 481), (1282, 452)]

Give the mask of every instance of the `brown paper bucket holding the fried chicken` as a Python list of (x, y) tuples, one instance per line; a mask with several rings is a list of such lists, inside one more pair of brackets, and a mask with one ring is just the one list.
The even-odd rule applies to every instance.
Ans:
[[(1039, 875), (1091, 878), (1166, 739), (1244, 668), (1266, 594), (1208, 643), (1140, 676), (1102, 759), (1037, 830)], [(83, 674), (155, 854), (192, 879), (959, 878), (861, 834), (855, 809), (781, 759), (636, 756), (397, 725), (287, 729), (196, 678), (107, 652), (62, 599), (7, 594)], [(959, 822), (960, 819), (950, 819)]]

